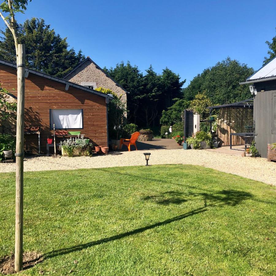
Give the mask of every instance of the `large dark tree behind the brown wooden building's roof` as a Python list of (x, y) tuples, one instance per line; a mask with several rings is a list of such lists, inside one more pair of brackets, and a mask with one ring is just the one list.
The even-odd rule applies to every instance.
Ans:
[[(68, 49), (67, 38), (61, 38), (44, 19), (32, 18), (15, 24), (18, 43), (25, 44), (26, 67), (46, 74), (63, 77), (85, 57), (80, 50)], [(16, 62), (13, 35), (9, 28), (0, 31), (0, 58)]]

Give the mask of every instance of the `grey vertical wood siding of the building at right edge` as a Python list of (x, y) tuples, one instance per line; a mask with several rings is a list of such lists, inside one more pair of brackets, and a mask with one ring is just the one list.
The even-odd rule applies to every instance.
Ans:
[[(276, 81), (255, 83), (258, 91), (254, 99), (254, 120), (256, 147), (262, 157), (267, 157), (267, 144), (276, 143), (273, 131), (273, 96), (276, 95)], [(264, 92), (260, 92), (264, 90)]]

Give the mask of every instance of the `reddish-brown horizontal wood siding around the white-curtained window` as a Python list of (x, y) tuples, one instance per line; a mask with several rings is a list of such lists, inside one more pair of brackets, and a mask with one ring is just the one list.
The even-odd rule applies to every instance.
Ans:
[[(1, 86), (17, 96), (16, 69), (0, 65)], [(25, 126), (40, 126), (41, 151), (45, 153), (47, 137), (51, 138), (50, 109), (83, 109), (81, 134), (99, 146), (107, 145), (107, 114), (105, 98), (84, 90), (69, 87), (38, 75), (25, 79)], [(77, 130), (77, 129), (76, 129)], [(72, 130), (74, 131), (74, 130)], [(26, 135), (27, 150), (37, 152), (38, 136)]]

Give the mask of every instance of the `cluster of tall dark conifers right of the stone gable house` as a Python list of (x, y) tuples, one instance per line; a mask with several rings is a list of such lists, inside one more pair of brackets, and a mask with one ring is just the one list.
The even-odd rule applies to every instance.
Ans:
[(104, 70), (129, 92), (128, 121), (140, 126), (159, 124), (162, 111), (172, 105), (173, 98), (182, 95), (185, 81), (180, 82), (180, 76), (168, 68), (159, 75), (150, 66), (143, 75), (128, 61)]

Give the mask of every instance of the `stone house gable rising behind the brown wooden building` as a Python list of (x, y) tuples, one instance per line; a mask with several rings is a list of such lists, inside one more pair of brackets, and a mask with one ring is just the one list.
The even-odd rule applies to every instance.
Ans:
[(106, 74), (101, 67), (94, 63), (89, 56), (80, 62), (63, 79), (91, 89), (95, 89), (97, 87), (111, 89), (113, 93), (117, 94), (118, 97), (121, 97), (121, 101), (126, 106), (128, 92), (117, 82), (115, 82), (108, 74)]

